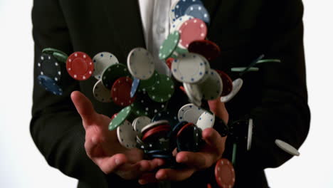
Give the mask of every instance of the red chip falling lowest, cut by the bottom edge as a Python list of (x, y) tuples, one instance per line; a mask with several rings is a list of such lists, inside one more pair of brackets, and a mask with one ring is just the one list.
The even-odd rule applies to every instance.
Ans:
[(235, 184), (235, 169), (227, 159), (221, 159), (215, 165), (215, 179), (219, 187), (231, 188)]

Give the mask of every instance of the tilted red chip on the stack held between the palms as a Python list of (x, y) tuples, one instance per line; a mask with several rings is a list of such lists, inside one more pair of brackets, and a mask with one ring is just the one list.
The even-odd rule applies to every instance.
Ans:
[(166, 137), (168, 132), (171, 131), (170, 125), (159, 125), (158, 127), (153, 127), (150, 130), (147, 130), (147, 132), (144, 132), (144, 135), (142, 136), (142, 141), (144, 142), (150, 142), (150, 141), (156, 141), (159, 138)]

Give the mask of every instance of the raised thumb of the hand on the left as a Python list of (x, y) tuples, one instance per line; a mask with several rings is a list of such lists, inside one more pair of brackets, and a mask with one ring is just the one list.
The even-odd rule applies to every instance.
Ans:
[(95, 117), (95, 110), (93, 108), (93, 104), (90, 102), (88, 98), (83, 95), (83, 93), (80, 93), (80, 91), (73, 91), (70, 94), (70, 98), (72, 99), (76, 110), (78, 110), (78, 113), (80, 114), (83, 125), (90, 125), (91, 120)]

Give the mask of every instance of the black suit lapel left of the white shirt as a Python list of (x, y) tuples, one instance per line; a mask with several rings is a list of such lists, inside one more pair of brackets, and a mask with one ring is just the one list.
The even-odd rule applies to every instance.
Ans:
[(144, 34), (137, 0), (102, 0), (110, 26), (115, 29), (115, 38), (126, 58), (132, 48), (144, 47)]

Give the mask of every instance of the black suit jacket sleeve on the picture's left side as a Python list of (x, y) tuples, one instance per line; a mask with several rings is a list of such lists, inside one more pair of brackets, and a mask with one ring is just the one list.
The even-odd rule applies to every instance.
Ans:
[(60, 169), (64, 174), (84, 179), (85, 182), (89, 182), (89, 179), (100, 179), (98, 177), (104, 174), (85, 153), (85, 130), (70, 100), (70, 92), (80, 90), (80, 85), (70, 78), (65, 64), (61, 65), (62, 77), (59, 84), (63, 88), (63, 95), (48, 93), (37, 80), (40, 73), (36, 65), (43, 48), (58, 48), (65, 53), (73, 51), (58, 1), (35, 0), (32, 20), (35, 63), (30, 131), (33, 141), (48, 164)]

